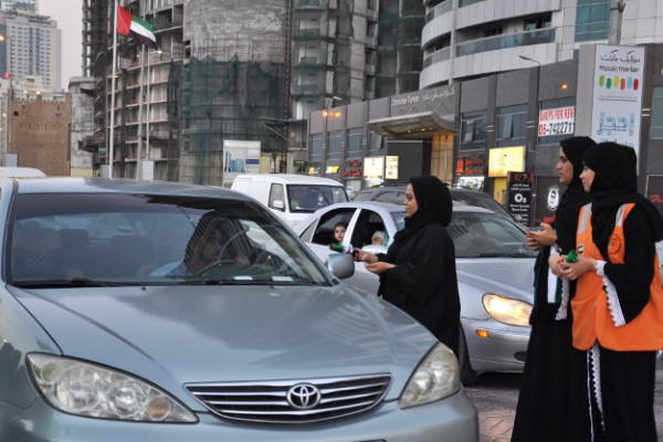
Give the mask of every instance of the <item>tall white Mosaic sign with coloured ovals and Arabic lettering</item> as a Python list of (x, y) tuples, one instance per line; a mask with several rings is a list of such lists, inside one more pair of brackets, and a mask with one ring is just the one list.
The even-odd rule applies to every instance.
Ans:
[(597, 141), (614, 141), (640, 147), (640, 112), (644, 75), (644, 48), (596, 49), (590, 136)]

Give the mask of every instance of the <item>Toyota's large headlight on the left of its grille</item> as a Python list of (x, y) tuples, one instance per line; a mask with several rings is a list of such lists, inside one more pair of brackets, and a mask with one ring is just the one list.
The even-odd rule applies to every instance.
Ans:
[(197, 422), (177, 400), (120, 371), (44, 354), (30, 354), (32, 379), (57, 410), (101, 419)]

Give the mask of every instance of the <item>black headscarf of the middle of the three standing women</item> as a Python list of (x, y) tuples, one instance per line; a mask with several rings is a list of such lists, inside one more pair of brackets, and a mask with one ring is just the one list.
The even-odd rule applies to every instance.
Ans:
[(564, 155), (573, 166), (573, 179), (561, 196), (555, 217), (555, 232), (557, 245), (562, 254), (576, 249), (576, 230), (578, 229), (578, 212), (589, 202), (589, 194), (582, 189), (580, 173), (582, 172), (582, 158), (596, 141), (589, 137), (571, 137), (559, 143)]

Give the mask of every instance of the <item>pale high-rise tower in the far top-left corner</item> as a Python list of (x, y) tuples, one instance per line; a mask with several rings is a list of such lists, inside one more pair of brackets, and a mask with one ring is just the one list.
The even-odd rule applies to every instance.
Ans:
[(31, 9), (0, 11), (0, 72), (14, 82), (38, 75), (44, 87), (61, 87), (62, 31), (55, 20)]

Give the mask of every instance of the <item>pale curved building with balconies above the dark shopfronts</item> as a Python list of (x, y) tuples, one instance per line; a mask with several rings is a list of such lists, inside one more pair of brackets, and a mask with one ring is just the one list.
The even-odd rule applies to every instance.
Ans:
[[(425, 0), (421, 88), (577, 59), (609, 38), (611, 0)], [(661, 41), (656, 0), (622, 1), (621, 44)], [(615, 15), (617, 17), (617, 15)], [(617, 27), (615, 22), (615, 27)]]

